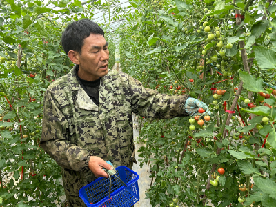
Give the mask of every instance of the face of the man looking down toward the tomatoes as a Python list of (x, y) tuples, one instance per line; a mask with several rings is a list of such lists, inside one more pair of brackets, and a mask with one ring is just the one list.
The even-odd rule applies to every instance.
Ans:
[(83, 40), (78, 75), (86, 81), (95, 81), (108, 74), (109, 51), (106, 39), (100, 34), (90, 34)]

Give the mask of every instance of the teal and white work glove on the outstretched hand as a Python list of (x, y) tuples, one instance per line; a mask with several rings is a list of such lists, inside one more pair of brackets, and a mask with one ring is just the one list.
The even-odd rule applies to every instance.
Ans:
[[(205, 112), (203, 114), (200, 114), (198, 112), (199, 108), (203, 108)], [(199, 101), (199, 99), (194, 99), (194, 98), (188, 98), (185, 106), (184, 106), (185, 111), (188, 113), (188, 115), (193, 116), (193, 115), (211, 115), (212, 113), (210, 112), (208, 106), (206, 103)]]

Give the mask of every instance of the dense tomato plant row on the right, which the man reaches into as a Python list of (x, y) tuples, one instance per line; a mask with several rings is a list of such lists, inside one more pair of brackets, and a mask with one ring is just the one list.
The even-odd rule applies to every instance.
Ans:
[[(160, 86), (184, 86), (184, 94), (204, 101), (212, 112), (204, 125), (197, 123), (200, 116), (146, 120), (140, 138), (148, 146), (139, 156), (155, 172), (146, 193), (152, 206), (168, 206), (174, 197), (183, 206), (208, 200), (241, 206), (241, 183), (250, 189), (244, 205), (273, 206), (276, 198), (263, 186), (275, 189), (275, 2), (131, 3), (142, 13), (129, 15), (119, 33), (122, 70), (152, 90), (157, 78)], [(164, 87), (157, 92), (181, 94)], [(163, 132), (168, 140), (160, 139)], [(164, 155), (168, 162), (160, 158)], [(215, 188), (214, 173), (220, 176)], [(269, 199), (257, 199), (258, 192)]]

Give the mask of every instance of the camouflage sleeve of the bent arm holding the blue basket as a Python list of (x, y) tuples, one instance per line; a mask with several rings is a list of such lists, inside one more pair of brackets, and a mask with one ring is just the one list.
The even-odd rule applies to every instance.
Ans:
[(68, 120), (59, 109), (55, 97), (48, 90), (44, 96), (41, 147), (63, 168), (88, 170), (90, 153), (72, 144)]

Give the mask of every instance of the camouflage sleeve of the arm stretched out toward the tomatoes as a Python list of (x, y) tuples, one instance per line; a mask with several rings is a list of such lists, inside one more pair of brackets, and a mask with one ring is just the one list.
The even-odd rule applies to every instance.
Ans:
[(144, 88), (141, 82), (129, 76), (132, 112), (148, 119), (171, 119), (188, 116), (184, 110), (188, 95), (166, 95)]

